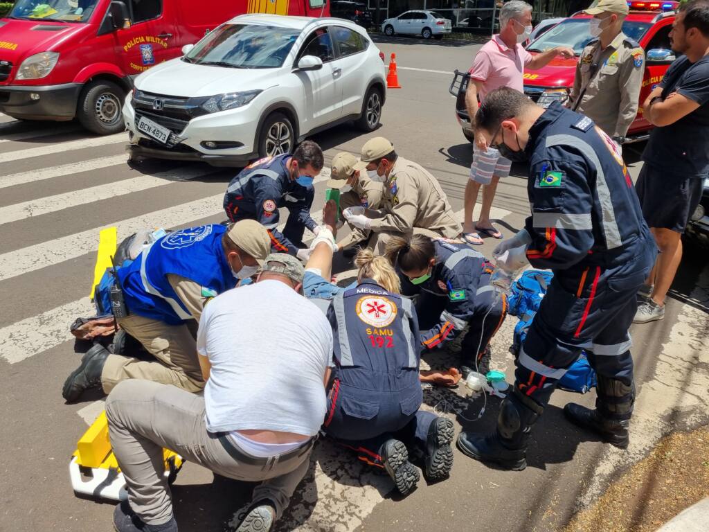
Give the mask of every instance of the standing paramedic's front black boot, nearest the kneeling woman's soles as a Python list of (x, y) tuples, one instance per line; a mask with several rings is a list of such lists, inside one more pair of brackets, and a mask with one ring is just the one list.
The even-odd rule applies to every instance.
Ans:
[(515, 388), (502, 401), (497, 430), (488, 436), (462, 432), (458, 436), (458, 448), (475, 460), (521, 471), (527, 467), (527, 440), (542, 411), (542, 406)]

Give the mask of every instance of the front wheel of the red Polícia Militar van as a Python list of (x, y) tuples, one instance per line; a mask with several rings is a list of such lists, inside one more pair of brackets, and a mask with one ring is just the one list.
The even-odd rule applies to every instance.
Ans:
[(121, 101), (125, 92), (113, 82), (99, 80), (86, 84), (79, 98), (77, 118), (92, 133), (111, 135), (125, 129)]

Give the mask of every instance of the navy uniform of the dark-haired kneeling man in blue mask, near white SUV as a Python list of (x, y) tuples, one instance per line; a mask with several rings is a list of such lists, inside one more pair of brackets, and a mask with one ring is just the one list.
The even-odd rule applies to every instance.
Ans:
[[(310, 215), (315, 189), (291, 181), (286, 167), (290, 157), (266, 157), (245, 167), (226, 189), (224, 210), (233, 222), (256, 220), (267, 228), (274, 253), (295, 255), (305, 228), (313, 231), (318, 224)], [(289, 211), (282, 233), (278, 230), (281, 207)]]

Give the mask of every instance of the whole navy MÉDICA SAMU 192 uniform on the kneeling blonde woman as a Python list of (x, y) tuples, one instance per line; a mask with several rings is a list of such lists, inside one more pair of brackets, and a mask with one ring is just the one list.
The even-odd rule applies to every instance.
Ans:
[(411, 300), (366, 279), (335, 295), (328, 319), (335, 355), (325, 432), (379, 467), (379, 448), (391, 438), (424, 450), (437, 418), (419, 410), (423, 392)]

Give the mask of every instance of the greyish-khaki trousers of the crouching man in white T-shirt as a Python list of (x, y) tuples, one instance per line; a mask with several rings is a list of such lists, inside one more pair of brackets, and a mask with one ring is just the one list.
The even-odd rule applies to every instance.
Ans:
[(174, 386), (138, 379), (121, 382), (106, 399), (106, 417), (130, 508), (147, 524), (166, 523), (172, 516), (172, 497), (167, 477), (162, 475), (163, 448), (223, 477), (263, 481), (254, 488), (252, 500), (271, 501), (277, 518), (308, 472), (312, 440), (284, 460), (242, 452), (246, 461), (240, 460), (225, 450), (216, 434), (207, 431), (204, 398)]

